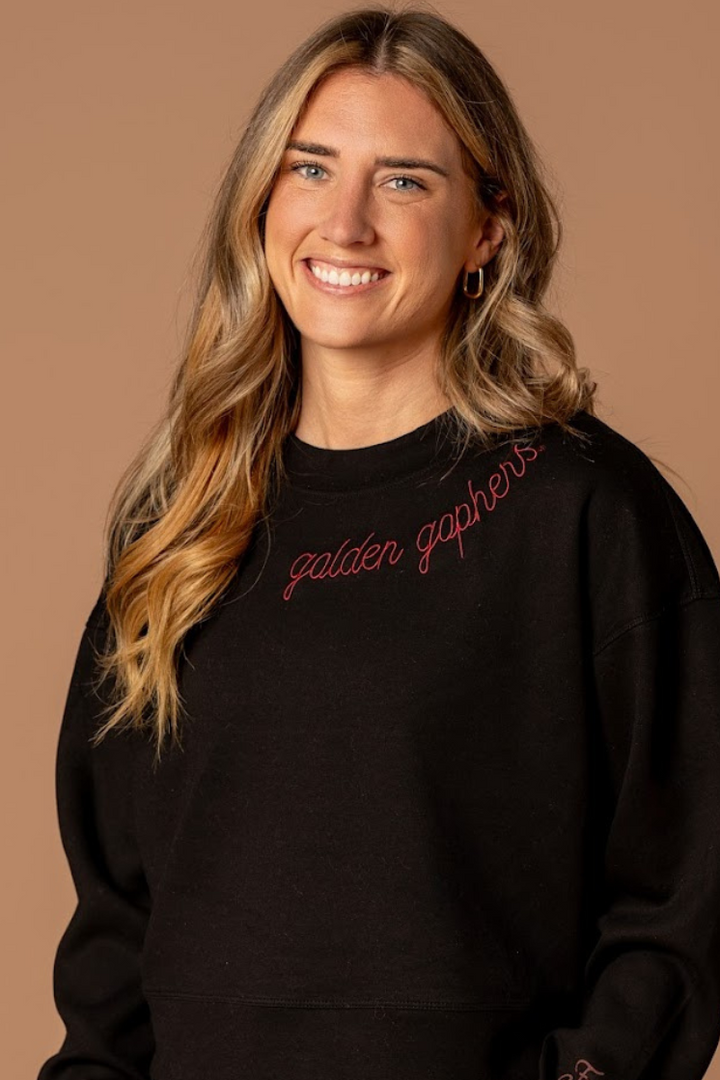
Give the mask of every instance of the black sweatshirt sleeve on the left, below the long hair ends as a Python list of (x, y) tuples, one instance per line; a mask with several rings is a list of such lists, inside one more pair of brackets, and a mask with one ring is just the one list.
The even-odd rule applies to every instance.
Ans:
[(53, 991), (66, 1036), (38, 1080), (147, 1080), (153, 1036), (140, 953), (149, 893), (132, 818), (130, 741), (110, 732), (94, 747), (95, 648), (101, 596), (85, 624), (56, 752), (56, 800), (77, 906), (59, 941)]

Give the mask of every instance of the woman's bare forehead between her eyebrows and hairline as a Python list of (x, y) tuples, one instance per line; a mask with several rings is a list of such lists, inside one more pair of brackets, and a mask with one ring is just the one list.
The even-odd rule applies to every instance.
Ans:
[(439, 110), (407, 79), (354, 69), (334, 71), (315, 87), (293, 136), (334, 145), (366, 143), (379, 152), (418, 150), (420, 145), (448, 157), (460, 150)]

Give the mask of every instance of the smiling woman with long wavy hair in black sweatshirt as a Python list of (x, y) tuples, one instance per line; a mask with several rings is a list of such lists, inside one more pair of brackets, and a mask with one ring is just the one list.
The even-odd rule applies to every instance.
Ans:
[(595, 416), (558, 242), (440, 16), (266, 89), (68, 693), (40, 1080), (705, 1074), (720, 578)]

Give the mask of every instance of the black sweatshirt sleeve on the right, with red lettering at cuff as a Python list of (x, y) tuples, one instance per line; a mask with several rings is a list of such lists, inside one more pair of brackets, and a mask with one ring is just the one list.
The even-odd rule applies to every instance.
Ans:
[(702, 1080), (720, 1041), (720, 580), (660, 476), (600, 508), (615, 626), (590, 667), (612, 813), (582, 1001), (544, 1038), (540, 1080)]

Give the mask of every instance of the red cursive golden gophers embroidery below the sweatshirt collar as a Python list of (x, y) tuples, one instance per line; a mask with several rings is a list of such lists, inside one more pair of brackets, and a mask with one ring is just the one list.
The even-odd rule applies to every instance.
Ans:
[[(501, 461), (498, 472), (492, 473), (486, 487), (474, 487), (467, 481), (467, 501), (457, 503), (437, 517), (420, 526), (415, 546), (420, 553), (417, 569), (420, 573), (430, 570), (431, 555), (438, 544), (456, 543), (460, 557), (465, 557), (463, 532), (476, 526), (486, 514), (491, 514), (501, 499), (506, 498), (513, 481), (525, 476), (527, 463), (534, 461), (544, 446), (513, 447), (510, 458)], [(347, 537), (335, 551), (304, 551), (290, 564), (289, 581), (283, 589), (283, 599), (289, 600), (300, 581), (322, 581), (325, 578), (348, 577), (362, 571), (379, 570), (382, 566), (395, 566), (405, 554), (405, 548), (397, 540), (385, 539), (370, 543), (376, 536), (370, 531), (361, 543), (352, 546)]]

